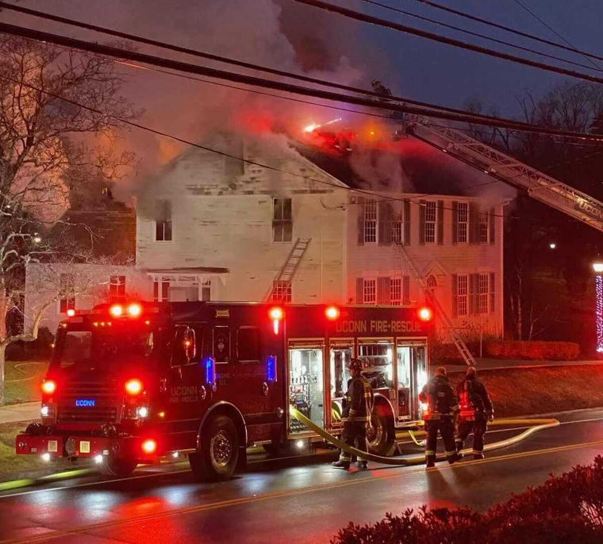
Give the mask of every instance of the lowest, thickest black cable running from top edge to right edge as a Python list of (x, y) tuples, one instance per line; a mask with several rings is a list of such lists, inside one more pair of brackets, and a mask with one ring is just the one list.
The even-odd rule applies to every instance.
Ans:
[(350, 10), (349, 8), (344, 8), (335, 4), (329, 4), (329, 2), (323, 2), (322, 0), (293, 1), (298, 2), (299, 4), (310, 5), (320, 10), (331, 11), (332, 13), (343, 15), (344, 17), (348, 17), (349, 19), (355, 19), (356, 21), (377, 25), (379, 27), (390, 28), (390, 30), (396, 30), (406, 34), (412, 34), (413, 36), (426, 38), (428, 40), (433, 40), (434, 42), (445, 43), (446, 45), (452, 45), (461, 49), (468, 49), (469, 51), (478, 52), (484, 55), (488, 55), (490, 57), (496, 57), (497, 59), (510, 60), (511, 62), (516, 62), (525, 66), (532, 66), (532, 68), (539, 68), (548, 72), (569, 75), (570, 77), (575, 77), (581, 80), (594, 81), (595, 83), (603, 83), (603, 79), (600, 77), (596, 77), (595, 75), (585, 74), (584, 72), (576, 72), (573, 70), (568, 70), (566, 68), (560, 68), (559, 66), (548, 65), (546, 63), (538, 62), (536, 60), (526, 59), (525, 57), (518, 57), (517, 55), (511, 55), (509, 53), (496, 51), (495, 49), (482, 47), (481, 45), (474, 45), (473, 43), (461, 42), (461, 40), (456, 40), (453, 38), (442, 36), (441, 34), (435, 34), (433, 32), (409, 27), (408, 25), (402, 25), (394, 21), (389, 21), (388, 19), (381, 19), (380, 17), (367, 15), (365, 13), (361, 13), (360, 11)]

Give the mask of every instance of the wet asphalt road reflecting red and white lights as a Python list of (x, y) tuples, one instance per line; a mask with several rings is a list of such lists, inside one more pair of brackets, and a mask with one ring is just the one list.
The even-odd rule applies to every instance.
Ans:
[[(603, 410), (560, 414), (558, 428), (521, 444), (436, 469), (343, 472), (326, 456), (262, 461), (227, 482), (198, 484), (185, 464), (145, 467), (122, 480), (74, 479), (0, 495), (1, 542), (329, 542), (352, 520), (426, 504), (485, 509), (551, 472), (603, 452)], [(500, 440), (517, 430), (497, 430)], [(408, 452), (410, 444), (404, 444)], [(417, 450), (414, 449), (414, 452)], [(288, 465), (288, 466), (287, 466)]]

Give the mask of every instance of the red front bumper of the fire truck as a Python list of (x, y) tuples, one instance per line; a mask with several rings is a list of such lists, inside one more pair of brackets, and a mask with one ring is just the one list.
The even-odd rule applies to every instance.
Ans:
[(140, 437), (95, 437), (19, 434), (15, 438), (17, 455), (50, 454), (54, 457), (145, 457), (140, 452)]

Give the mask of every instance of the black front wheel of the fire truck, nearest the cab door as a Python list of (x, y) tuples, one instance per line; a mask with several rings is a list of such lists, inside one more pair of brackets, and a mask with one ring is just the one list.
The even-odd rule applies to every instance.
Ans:
[(216, 416), (201, 429), (201, 451), (189, 455), (191, 470), (200, 481), (228, 479), (239, 458), (239, 435), (228, 416)]

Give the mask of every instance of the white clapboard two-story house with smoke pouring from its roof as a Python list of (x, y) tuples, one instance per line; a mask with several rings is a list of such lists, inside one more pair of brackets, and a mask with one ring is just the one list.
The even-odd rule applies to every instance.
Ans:
[[(425, 302), (420, 277), (461, 332), (502, 334), (500, 198), (359, 192), (284, 139), (223, 144), (251, 163), (193, 148), (147, 183), (124, 233), (135, 265), (95, 272), (106, 299), (402, 305)], [(92, 299), (62, 299), (48, 323)]]

